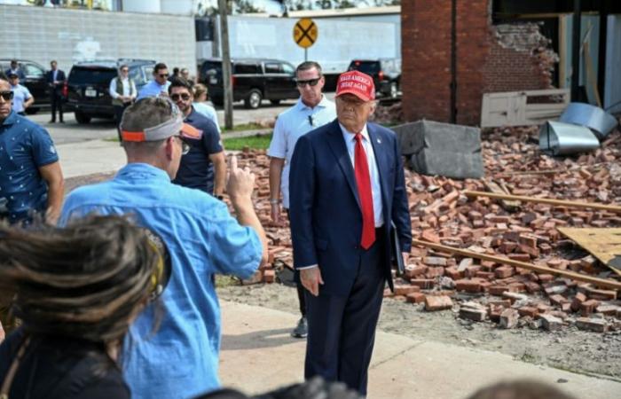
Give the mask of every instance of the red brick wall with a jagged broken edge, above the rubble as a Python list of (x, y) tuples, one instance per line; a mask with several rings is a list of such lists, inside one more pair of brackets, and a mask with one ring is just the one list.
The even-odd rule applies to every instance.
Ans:
[[(406, 121), (450, 121), (451, 0), (401, 5)], [(554, 55), (536, 24), (491, 26), (491, 0), (457, 2), (457, 122), (476, 125), (487, 91), (547, 89)]]

